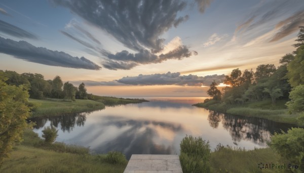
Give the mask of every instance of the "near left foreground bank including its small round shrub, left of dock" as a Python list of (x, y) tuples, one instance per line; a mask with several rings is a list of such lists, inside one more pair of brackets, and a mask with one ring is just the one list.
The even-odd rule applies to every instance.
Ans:
[[(126, 165), (106, 162), (106, 154), (89, 154), (89, 149), (63, 143), (41, 147), (43, 140), (32, 130), (24, 132), (24, 141), (4, 159), (1, 172), (123, 172)], [(60, 146), (60, 147), (58, 147)], [(60, 149), (61, 148), (61, 149)]]

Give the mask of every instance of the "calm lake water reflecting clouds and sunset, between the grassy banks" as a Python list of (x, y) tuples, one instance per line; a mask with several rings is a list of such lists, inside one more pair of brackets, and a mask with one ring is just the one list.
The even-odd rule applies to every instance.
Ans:
[(145, 97), (150, 102), (106, 107), (36, 122), (41, 137), (46, 126), (59, 129), (56, 141), (90, 147), (94, 153), (111, 150), (132, 154), (179, 154), (185, 135), (245, 149), (266, 147), (274, 132), (286, 131), (288, 124), (234, 116), (191, 106), (204, 97)]

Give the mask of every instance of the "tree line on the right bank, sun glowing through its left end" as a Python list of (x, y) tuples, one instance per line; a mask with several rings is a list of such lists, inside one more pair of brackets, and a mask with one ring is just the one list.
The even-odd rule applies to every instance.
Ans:
[(304, 27), (299, 28), (298, 43), (293, 45), (296, 51), (281, 57), (278, 68), (274, 64), (263, 64), (257, 66), (255, 72), (252, 69), (243, 72), (234, 69), (224, 79), (224, 84), (230, 86), (220, 91), (216, 82), (212, 82), (207, 94), (226, 104), (244, 104), (263, 99), (271, 99), (272, 104), (276, 104), (278, 99), (287, 101), (289, 98), (291, 101), (287, 102), (287, 106), (290, 107), (296, 103), (295, 100), (302, 100), (297, 103), (301, 108), (295, 109), (304, 111)]

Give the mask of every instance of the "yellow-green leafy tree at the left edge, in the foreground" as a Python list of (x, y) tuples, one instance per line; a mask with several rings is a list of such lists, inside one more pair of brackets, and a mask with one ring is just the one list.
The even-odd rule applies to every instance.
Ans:
[(9, 156), (12, 146), (22, 141), (23, 130), (28, 128), (28, 92), (25, 85), (12, 86), (5, 83), (7, 78), (0, 72), (0, 167)]

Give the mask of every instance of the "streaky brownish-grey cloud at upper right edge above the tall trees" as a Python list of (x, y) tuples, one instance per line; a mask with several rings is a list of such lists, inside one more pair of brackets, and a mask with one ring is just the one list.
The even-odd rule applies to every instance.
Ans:
[(299, 26), (304, 25), (304, 12), (300, 11), (292, 15), (291, 17), (279, 22), (276, 28), (280, 28), (280, 31), (276, 33), (270, 42), (278, 41), (287, 35), (290, 35), (299, 30)]

